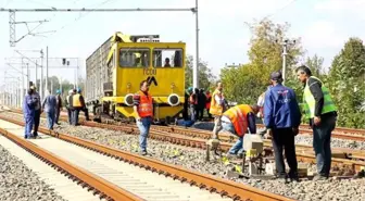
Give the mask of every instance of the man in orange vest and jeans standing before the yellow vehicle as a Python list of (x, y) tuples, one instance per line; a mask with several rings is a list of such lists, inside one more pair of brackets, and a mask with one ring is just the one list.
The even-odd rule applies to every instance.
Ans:
[(140, 153), (147, 155), (147, 138), (153, 120), (153, 100), (149, 93), (149, 84), (147, 80), (140, 83), (140, 90), (134, 96), (134, 111), (136, 124), (140, 131)]

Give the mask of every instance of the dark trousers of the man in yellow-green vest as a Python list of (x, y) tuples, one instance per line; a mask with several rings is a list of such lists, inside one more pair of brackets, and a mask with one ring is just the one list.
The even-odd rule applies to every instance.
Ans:
[(313, 148), (316, 154), (317, 173), (329, 176), (331, 167), (331, 133), (336, 127), (336, 116), (328, 116), (318, 126), (313, 125)]

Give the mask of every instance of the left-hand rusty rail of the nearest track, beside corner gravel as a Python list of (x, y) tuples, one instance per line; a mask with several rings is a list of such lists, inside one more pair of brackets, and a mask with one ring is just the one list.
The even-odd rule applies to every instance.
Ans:
[(126, 201), (144, 200), (81, 167), (77, 167), (73, 164), (67, 163), (61, 158), (54, 155), (53, 153), (42, 148), (39, 148), (38, 146), (25, 139), (22, 139), (3, 128), (0, 128), (0, 133), (8, 139), (12, 140), (16, 145), (24, 148), (25, 150), (37, 155), (37, 158), (40, 158), (42, 161), (46, 161), (48, 164), (51, 164), (52, 167), (59, 168), (59, 172), (61, 172), (62, 174), (66, 174), (66, 176), (68, 177), (72, 177), (74, 181), (80, 180), (86, 184), (84, 186), (89, 186), (97, 189), (97, 193), (100, 194), (100, 198), (108, 198), (108, 200), (126, 200)]

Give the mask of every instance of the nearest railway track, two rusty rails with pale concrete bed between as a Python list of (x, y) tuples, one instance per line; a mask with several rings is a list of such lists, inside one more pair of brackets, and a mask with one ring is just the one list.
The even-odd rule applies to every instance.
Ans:
[(43, 127), (41, 139), (24, 140), (24, 123), (0, 125), (7, 138), (106, 200), (291, 200)]

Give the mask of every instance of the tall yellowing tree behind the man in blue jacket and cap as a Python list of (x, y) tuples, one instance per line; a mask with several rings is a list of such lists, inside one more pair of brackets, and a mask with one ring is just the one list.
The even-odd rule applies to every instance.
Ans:
[[(250, 62), (238, 68), (223, 68), (221, 72), (222, 81), (228, 86), (225, 88), (226, 97), (240, 103), (255, 103), (269, 85), (269, 74), (282, 68), (281, 41), (287, 39), (286, 34), (290, 28), (289, 24), (274, 24), (267, 18), (254, 22), (250, 27)], [(295, 43), (288, 46), (287, 52), (286, 85), (294, 86), (299, 90), (300, 84), (292, 66), (303, 54), (301, 40), (297, 38)]]

